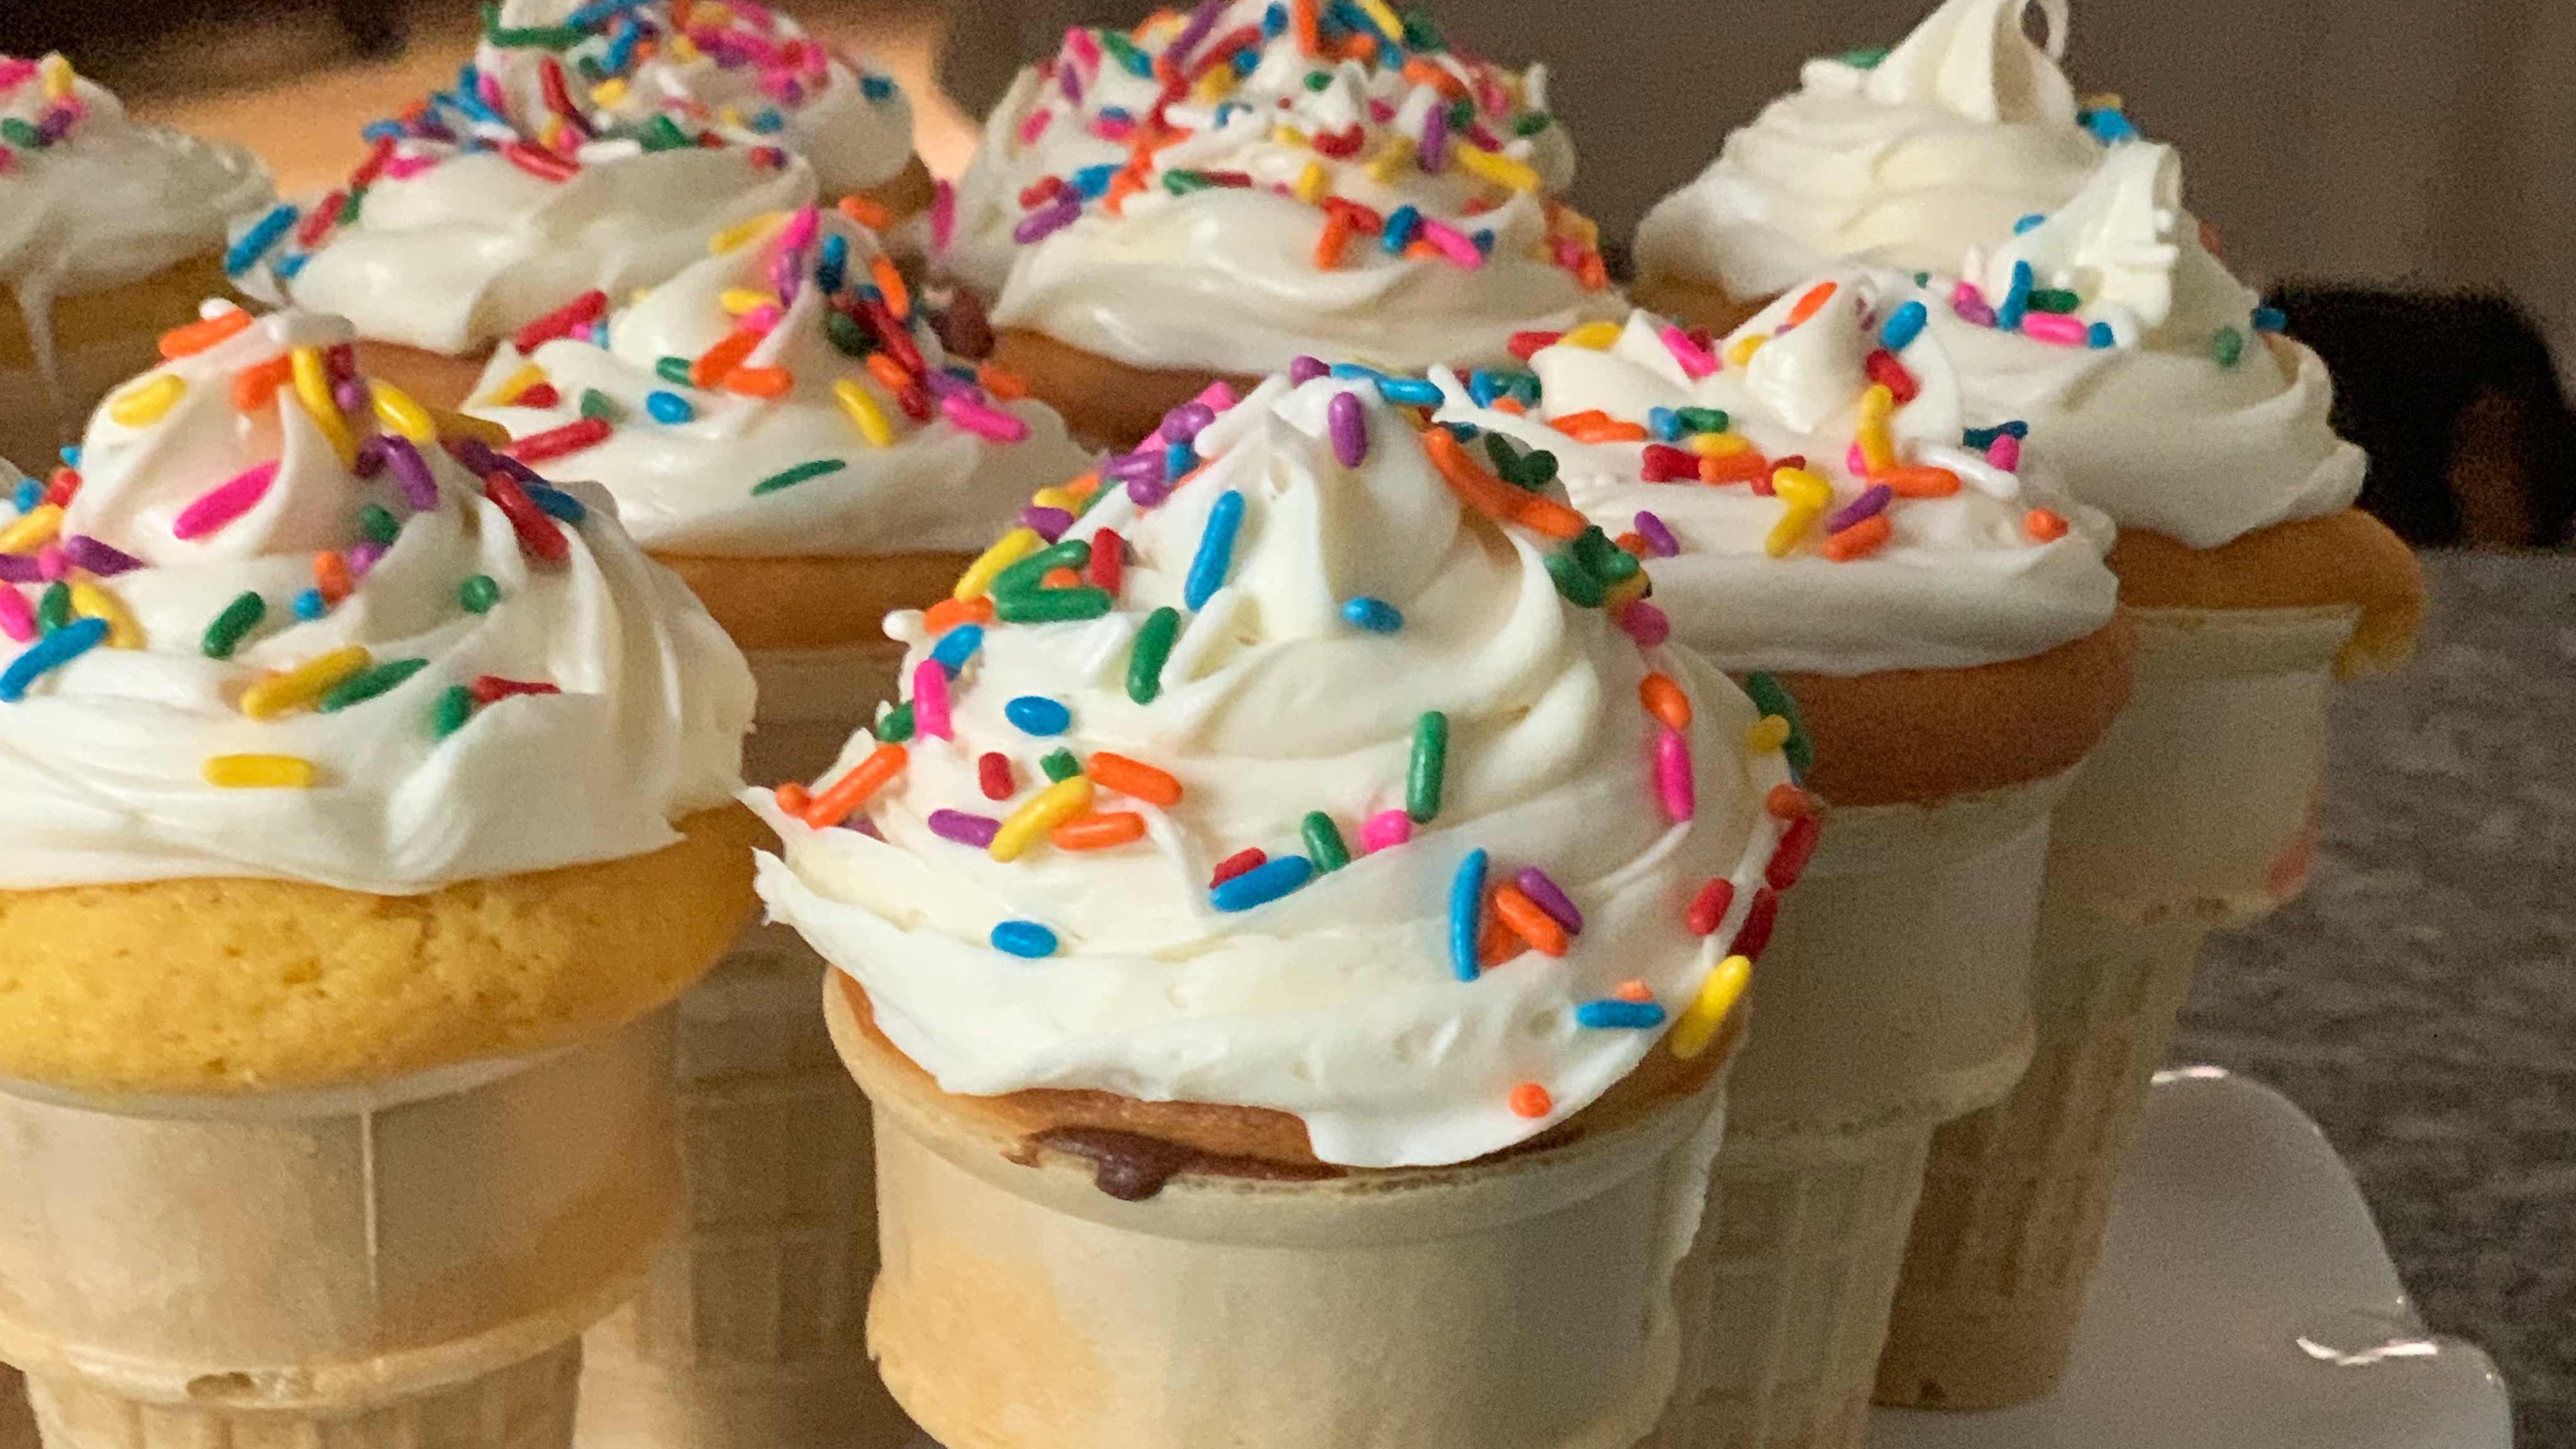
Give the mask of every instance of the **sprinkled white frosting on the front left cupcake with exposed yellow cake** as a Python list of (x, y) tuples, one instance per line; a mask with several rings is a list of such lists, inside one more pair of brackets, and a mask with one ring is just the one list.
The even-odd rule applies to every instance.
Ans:
[(654, 851), (737, 789), (750, 670), (603, 495), (448, 433), (477, 482), (335, 317), (173, 338), (0, 526), (0, 887), (412, 895)]

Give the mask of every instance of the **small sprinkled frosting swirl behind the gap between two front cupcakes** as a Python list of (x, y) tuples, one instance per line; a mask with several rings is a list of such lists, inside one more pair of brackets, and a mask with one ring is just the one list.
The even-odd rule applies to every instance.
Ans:
[[(1046, 405), (948, 371), (866, 227), (806, 209), (716, 245), (616, 315), (592, 294), (582, 322), (538, 327), (562, 335), (505, 343), (474, 394), (515, 438), (580, 443), (549, 467), (605, 485), (647, 549), (974, 552), (1082, 469)], [(670, 376), (744, 333), (739, 379)]]

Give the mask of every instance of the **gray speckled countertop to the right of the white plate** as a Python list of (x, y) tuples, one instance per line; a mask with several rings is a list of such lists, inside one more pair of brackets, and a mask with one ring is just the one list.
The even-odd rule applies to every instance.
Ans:
[(2416, 663), (2336, 701), (2308, 895), (2210, 944), (2174, 1062), (2308, 1109), (2517, 1444), (2576, 1446), (2576, 557), (2424, 572)]

